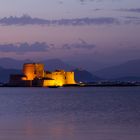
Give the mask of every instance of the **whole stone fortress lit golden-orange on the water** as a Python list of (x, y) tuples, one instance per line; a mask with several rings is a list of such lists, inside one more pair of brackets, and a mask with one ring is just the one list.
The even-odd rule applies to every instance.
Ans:
[(54, 72), (45, 71), (44, 64), (26, 63), (23, 65), (21, 75), (10, 75), (9, 84), (11, 86), (39, 86), (53, 87), (64, 85), (75, 85), (74, 72), (56, 70)]

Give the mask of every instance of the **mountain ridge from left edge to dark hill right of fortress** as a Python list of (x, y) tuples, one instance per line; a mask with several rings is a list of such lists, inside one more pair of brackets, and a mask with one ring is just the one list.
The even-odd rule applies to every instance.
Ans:
[[(10, 74), (21, 74), (22, 65), (24, 63), (34, 63), (31, 60), (15, 60), (11, 58), (0, 58), (0, 82), (7, 82)], [(92, 82), (99, 78), (92, 75), (87, 70), (77, 69), (75, 66), (71, 66), (60, 59), (48, 59), (39, 61), (37, 63), (43, 63), (45, 70), (55, 71), (56, 69), (64, 69), (65, 71), (74, 71), (75, 80), (77, 82)], [(17, 69), (16, 69), (17, 68)]]

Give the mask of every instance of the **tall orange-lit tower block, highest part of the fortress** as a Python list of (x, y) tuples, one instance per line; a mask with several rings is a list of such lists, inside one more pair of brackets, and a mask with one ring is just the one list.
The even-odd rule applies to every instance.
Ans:
[(27, 80), (33, 80), (34, 78), (43, 78), (44, 64), (26, 63), (23, 65), (23, 74), (26, 75)]

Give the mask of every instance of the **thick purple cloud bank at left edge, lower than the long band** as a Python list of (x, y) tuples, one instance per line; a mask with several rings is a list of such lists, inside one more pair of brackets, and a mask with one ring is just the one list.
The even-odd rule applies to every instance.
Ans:
[(0, 52), (15, 52), (15, 53), (27, 53), (27, 52), (44, 52), (49, 49), (46, 43), (36, 42), (29, 45), (28, 43), (20, 44), (0, 44)]

